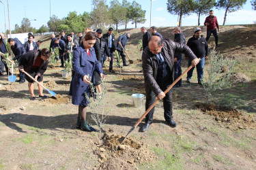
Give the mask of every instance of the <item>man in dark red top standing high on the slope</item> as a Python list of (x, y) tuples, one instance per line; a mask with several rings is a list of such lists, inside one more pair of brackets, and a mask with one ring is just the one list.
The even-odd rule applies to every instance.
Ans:
[(204, 25), (207, 26), (206, 41), (208, 41), (210, 36), (213, 34), (215, 38), (215, 45), (218, 47), (218, 33), (216, 28), (218, 29), (218, 32), (220, 32), (220, 27), (218, 27), (218, 21), (216, 16), (214, 16), (213, 10), (210, 10), (209, 16), (205, 18)]

